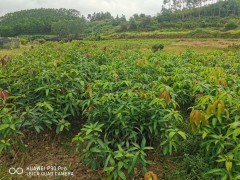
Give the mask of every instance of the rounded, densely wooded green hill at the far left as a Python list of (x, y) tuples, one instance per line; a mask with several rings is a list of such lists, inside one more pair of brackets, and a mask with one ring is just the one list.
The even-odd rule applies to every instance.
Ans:
[(0, 18), (0, 35), (50, 34), (53, 23), (80, 18), (80, 12), (73, 9), (22, 10)]

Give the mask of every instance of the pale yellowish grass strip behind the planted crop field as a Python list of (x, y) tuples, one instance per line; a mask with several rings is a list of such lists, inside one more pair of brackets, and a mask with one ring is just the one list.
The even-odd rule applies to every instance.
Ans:
[[(128, 42), (127, 46), (125, 43)], [(92, 41), (83, 41), (86, 44), (92, 44)], [(136, 49), (139, 48), (141, 50), (145, 49), (146, 51), (151, 51), (151, 48), (154, 44), (162, 43), (165, 45), (164, 51), (167, 53), (180, 54), (186, 49), (192, 49), (199, 53), (207, 53), (213, 50), (223, 50), (227, 49), (229, 45), (232, 44), (240, 44), (239, 39), (131, 39), (131, 40), (104, 40), (104, 41), (96, 41), (94, 44), (98, 46), (104, 46), (107, 44), (109, 47), (113, 46), (124, 46), (122, 48), (128, 49)], [(103, 46), (103, 44), (105, 44)], [(27, 51), (31, 48), (31, 44), (21, 45), (20, 48), (17, 49), (0, 49), (0, 58), (4, 55), (8, 55), (11, 57), (21, 55), (24, 51)]]

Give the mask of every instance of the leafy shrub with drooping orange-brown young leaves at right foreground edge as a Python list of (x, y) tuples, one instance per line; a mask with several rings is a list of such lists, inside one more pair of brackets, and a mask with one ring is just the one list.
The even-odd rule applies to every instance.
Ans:
[[(193, 127), (193, 130), (202, 134), (203, 156), (209, 159), (211, 167), (217, 166), (206, 173), (206, 176), (236, 178), (240, 175), (238, 139), (240, 134), (238, 102), (240, 99), (237, 94), (231, 94), (228, 90), (223, 89), (227, 87), (227, 82), (219, 82), (217, 79), (213, 81), (219, 86), (215, 86), (216, 90), (212, 95), (206, 95), (199, 99), (196, 107), (201, 107), (203, 110), (193, 110), (190, 122), (196, 126)], [(209, 88), (214, 90), (214, 86)]]

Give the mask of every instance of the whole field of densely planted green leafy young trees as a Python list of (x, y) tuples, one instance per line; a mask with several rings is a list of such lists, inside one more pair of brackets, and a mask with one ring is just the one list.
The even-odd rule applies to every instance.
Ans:
[(18, 148), (26, 129), (61, 133), (81, 121), (81, 158), (108, 177), (146, 172), (155, 149), (200, 154), (208, 167), (198, 178), (240, 178), (239, 53), (150, 47), (46, 43), (9, 61), (0, 69), (0, 151)]

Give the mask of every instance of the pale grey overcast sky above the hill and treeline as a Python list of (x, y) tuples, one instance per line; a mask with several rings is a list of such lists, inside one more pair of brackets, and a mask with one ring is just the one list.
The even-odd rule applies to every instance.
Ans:
[(113, 16), (135, 13), (156, 15), (163, 0), (0, 0), (0, 16), (14, 11), (34, 8), (76, 9), (83, 15), (109, 11)]

